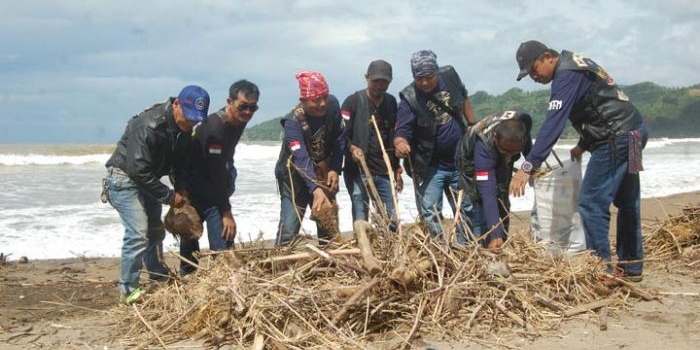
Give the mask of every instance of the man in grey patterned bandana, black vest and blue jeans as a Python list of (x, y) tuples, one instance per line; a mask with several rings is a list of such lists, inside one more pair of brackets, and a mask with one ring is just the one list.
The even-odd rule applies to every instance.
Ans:
[[(469, 125), (476, 123), (474, 111), (457, 72), (451, 66), (438, 67), (437, 56), (422, 50), (411, 56), (414, 81), (401, 91), (397, 112), (394, 148), (413, 178), (416, 206), (434, 236), (441, 235), (439, 208), (442, 193), (456, 213), (459, 172), (455, 149)], [(457, 242), (466, 243), (464, 222), (471, 217), (472, 205), (464, 197), (457, 223)]]

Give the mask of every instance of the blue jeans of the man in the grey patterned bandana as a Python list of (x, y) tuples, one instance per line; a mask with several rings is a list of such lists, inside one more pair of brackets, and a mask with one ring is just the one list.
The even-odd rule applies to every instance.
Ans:
[[(442, 170), (437, 167), (430, 166), (425, 174), (425, 180), (420, 184), (417, 190), (416, 206), (420, 211), (423, 220), (428, 224), (428, 231), (433, 236), (442, 234), (442, 223), (440, 221), (440, 212), (437, 211), (441, 207), (442, 193), (447, 197), (447, 203), (452, 208), (452, 213), (456, 212), (457, 193), (459, 192), (459, 171), (457, 170)], [(454, 197), (453, 197), (454, 196)], [(460, 207), (460, 222), (455, 230), (457, 243), (467, 243), (467, 235), (465, 233), (465, 223), (472, 226), (471, 218), (473, 215), (473, 206), (469, 196), (464, 196)], [(481, 232), (480, 229), (472, 227), (472, 230)]]

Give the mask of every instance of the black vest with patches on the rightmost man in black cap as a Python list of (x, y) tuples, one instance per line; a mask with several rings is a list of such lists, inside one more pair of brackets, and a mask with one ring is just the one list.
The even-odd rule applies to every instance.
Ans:
[(557, 70), (586, 71), (594, 77), (591, 89), (576, 102), (569, 119), (589, 150), (642, 125), (642, 115), (627, 95), (593, 60), (562, 51)]

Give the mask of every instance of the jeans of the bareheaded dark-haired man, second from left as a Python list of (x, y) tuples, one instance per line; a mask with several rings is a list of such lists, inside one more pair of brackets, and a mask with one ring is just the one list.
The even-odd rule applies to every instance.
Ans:
[[(200, 209), (198, 205), (194, 206), (197, 209), (197, 214), (199, 214), (202, 222), (207, 223), (207, 238), (209, 239), (209, 249), (213, 251), (221, 251), (231, 249), (234, 245), (234, 241), (227, 241), (222, 235), (224, 231), (224, 222), (221, 218), (221, 212), (219, 207), (213, 206), (205, 209)], [(182, 239), (180, 241), (180, 255), (183, 258), (197, 263), (198, 260), (194, 256), (194, 252), (199, 251), (199, 240), (196, 239)], [(180, 261), (180, 274), (186, 275), (188, 273), (194, 272), (196, 268), (185, 261)]]

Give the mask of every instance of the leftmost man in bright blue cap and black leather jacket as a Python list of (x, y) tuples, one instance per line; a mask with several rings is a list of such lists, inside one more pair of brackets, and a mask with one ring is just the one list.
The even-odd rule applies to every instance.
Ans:
[[(162, 205), (182, 207), (186, 201), (185, 168), (192, 127), (207, 119), (209, 94), (189, 85), (177, 98), (157, 103), (129, 120), (117, 148), (106, 163), (107, 199), (124, 225), (119, 291), (127, 303), (143, 294), (141, 266), (151, 280), (167, 280), (162, 262), (165, 229)], [(160, 181), (171, 175), (174, 189)]]

